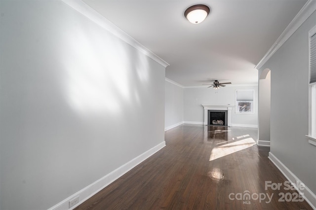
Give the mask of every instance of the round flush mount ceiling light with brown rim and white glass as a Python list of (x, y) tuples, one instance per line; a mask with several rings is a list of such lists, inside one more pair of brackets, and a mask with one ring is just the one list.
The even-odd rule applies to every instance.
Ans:
[(184, 16), (193, 24), (201, 23), (209, 14), (210, 9), (204, 4), (190, 6), (184, 12)]

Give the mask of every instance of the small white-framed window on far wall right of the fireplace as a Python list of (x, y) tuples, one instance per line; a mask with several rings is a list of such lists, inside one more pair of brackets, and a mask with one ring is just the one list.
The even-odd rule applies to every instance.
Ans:
[(254, 90), (236, 90), (236, 113), (253, 113)]

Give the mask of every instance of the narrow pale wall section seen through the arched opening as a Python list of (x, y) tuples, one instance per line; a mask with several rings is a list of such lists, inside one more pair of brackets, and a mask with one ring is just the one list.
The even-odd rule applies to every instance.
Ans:
[[(259, 145), (269, 146), (270, 141), (270, 107), (271, 107), (271, 71), (267, 70), (266, 75), (262, 75), (264, 78), (259, 78)], [(266, 72), (265, 72), (266, 73)], [(263, 74), (265, 74), (263, 73)]]

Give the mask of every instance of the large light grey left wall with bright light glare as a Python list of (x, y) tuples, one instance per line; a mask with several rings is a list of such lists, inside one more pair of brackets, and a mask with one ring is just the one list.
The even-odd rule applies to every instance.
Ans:
[(58, 0), (0, 13), (0, 209), (48, 209), (164, 142), (164, 67)]

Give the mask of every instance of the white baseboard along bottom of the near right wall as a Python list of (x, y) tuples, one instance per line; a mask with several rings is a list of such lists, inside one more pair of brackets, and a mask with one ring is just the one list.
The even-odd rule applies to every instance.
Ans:
[(272, 152), (269, 152), (268, 157), (276, 168), (291, 182), (291, 183), (302, 183), (305, 186), (304, 190), (299, 190), (296, 188), (296, 185), (293, 185), (299, 193), (304, 193), (303, 198), (313, 209), (316, 210), (316, 195), (298, 178), (294, 175), (279, 159), (276, 158)]

